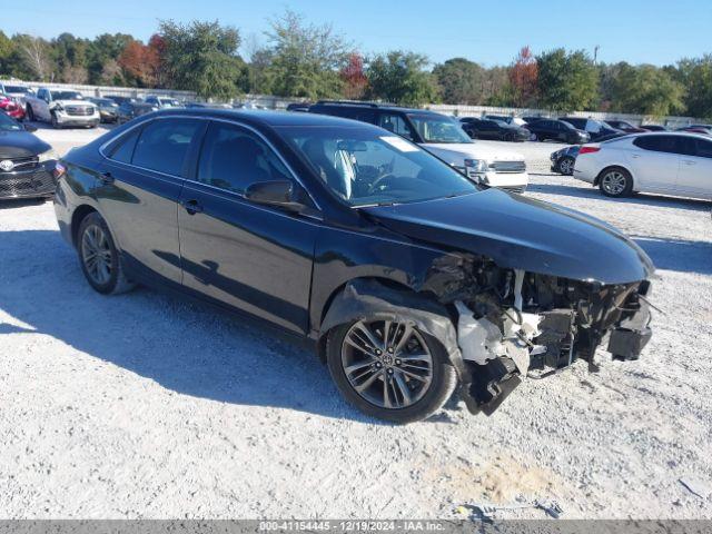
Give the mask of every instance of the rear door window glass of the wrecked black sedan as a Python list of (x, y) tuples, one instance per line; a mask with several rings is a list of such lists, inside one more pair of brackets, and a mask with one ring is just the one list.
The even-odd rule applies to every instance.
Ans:
[(146, 169), (180, 176), (190, 142), (199, 127), (199, 121), (189, 119), (149, 123), (141, 132), (131, 162)]

